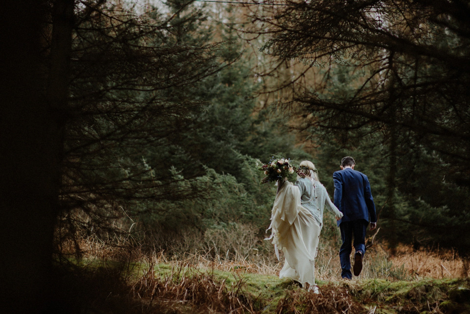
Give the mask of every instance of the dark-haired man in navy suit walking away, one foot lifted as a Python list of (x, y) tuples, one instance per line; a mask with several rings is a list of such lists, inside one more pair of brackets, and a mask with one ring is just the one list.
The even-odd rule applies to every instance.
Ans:
[(341, 170), (333, 173), (334, 205), (343, 213), (338, 221), (343, 244), (339, 251), (341, 277), (352, 279), (351, 274), (351, 243), (354, 236), (354, 276), (362, 270), (362, 258), (366, 252), (366, 228), (371, 221), (370, 230), (377, 225), (376, 205), (371, 193), (371, 185), (367, 176), (354, 170), (354, 159), (350, 156), (341, 160)]

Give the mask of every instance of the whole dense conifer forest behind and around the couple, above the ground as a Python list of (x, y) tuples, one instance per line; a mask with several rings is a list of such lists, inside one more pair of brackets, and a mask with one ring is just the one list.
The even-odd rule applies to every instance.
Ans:
[(353, 156), (376, 241), (469, 256), (467, 1), (7, 2), (0, 292), (19, 311), (83, 239), (272, 257), (273, 155), (331, 197)]

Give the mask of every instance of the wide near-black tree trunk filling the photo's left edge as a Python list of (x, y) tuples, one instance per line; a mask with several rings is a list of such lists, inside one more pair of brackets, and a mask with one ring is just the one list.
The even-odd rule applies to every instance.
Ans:
[[(46, 2), (2, 2), (1, 78), (6, 83), (0, 109), (1, 313), (46, 313), (55, 306), (52, 246), (68, 56), (66, 45), (52, 44), (51, 64), (60, 70), (53, 67), (48, 73), (43, 62)], [(66, 29), (54, 29), (52, 42), (67, 41)]]

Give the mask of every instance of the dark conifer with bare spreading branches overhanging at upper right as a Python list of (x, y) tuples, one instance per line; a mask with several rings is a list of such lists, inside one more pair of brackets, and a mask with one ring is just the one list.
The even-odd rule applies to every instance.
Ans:
[[(381, 138), (386, 148), (382, 163), (388, 169), (384, 211), (390, 227), (396, 230), (393, 234), (399, 232), (400, 219), (415, 223), (400, 217), (400, 194), (407, 195), (410, 202), (422, 196), (430, 213), (440, 209), (441, 217), (454, 221), (452, 225), (459, 221), (467, 228), (468, 207), (447, 212), (442, 202), (424, 197), (425, 189), (410, 193), (404, 188), (410, 176), (401, 166), (412, 163), (416, 167), (427, 160), (430, 164), (426, 168), (439, 169), (441, 181), (445, 177), (446, 184), (441, 186), (438, 176), (433, 176), (433, 185), (452, 190), (457, 199), (470, 195), (470, 173), (464, 166), (470, 152), (469, 94), (464, 87), (470, 69), (469, 23), (464, 18), (469, 13), (467, 2), (331, 0), (286, 4), (257, 16), (272, 34), (264, 49), (279, 60), (295, 58), (312, 69), (347, 67), (352, 93), (322, 95), (319, 91), (325, 81), (319, 79), (312, 84), (300, 79), (287, 83), (294, 86), (296, 113), (312, 115), (305, 121), (311, 128), (326, 128), (336, 138), (352, 142), (349, 145), (359, 143), (359, 137), (370, 132)], [(358, 73), (360, 77), (354, 79)], [(323, 78), (327, 81), (334, 77), (326, 74)], [(453, 206), (443, 198), (447, 206)], [(437, 220), (433, 223), (442, 226)], [(431, 232), (433, 223), (423, 224), (423, 230)], [(460, 230), (450, 231), (453, 235), (449, 239), (453, 240), (446, 243), (468, 253), (470, 246), (460, 240)]]

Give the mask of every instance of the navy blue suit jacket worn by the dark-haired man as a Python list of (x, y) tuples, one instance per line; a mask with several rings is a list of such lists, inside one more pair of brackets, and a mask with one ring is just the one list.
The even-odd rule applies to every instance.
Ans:
[(343, 221), (364, 219), (377, 222), (376, 205), (367, 175), (351, 168), (333, 173), (334, 205), (343, 213)]

